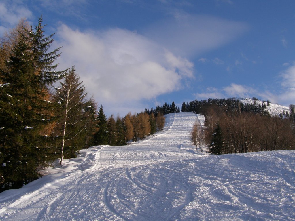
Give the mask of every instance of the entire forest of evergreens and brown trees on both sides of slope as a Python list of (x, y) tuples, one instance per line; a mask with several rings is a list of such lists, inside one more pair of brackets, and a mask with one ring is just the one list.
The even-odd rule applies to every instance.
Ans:
[(164, 115), (180, 111), (206, 116), (192, 139), (212, 154), (294, 149), (294, 106), (270, 116), (269, 102), (208, 99), (183, 102), (181, 110), (172, 102), (107, 118), (103, 106), (87, 98), (74, 66), (57, 70), (61, 48), (50, 50), (54, 33), (45, 35), (44, 27), (42, 17), (34, 27), (21, 20), (0, 39), (0, 192), (38, 179), (38, 171), (81, 149), (127, 145), (162, 131)]

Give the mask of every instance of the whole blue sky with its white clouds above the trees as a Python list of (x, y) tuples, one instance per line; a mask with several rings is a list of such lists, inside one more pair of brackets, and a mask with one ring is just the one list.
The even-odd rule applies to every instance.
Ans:
[(0, 35), (20, 18), (62, 46), (106, 114), (165, 102), (257, 97), (295, 104), (295, 1), (1, 1)]

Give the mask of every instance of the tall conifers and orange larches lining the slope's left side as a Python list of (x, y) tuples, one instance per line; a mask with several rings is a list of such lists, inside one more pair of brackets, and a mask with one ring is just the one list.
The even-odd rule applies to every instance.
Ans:
[[(75, 67), (58, 71), (60, 47), (45, 36), (42, 17), (24, 19), (0, 39), (0, 192), (40, 177), (53, 161), (94, 145), (126, 145), (161, 131), (172, 105), (106, 118)], [(58, 86), (53, 86), (58, 85)]]

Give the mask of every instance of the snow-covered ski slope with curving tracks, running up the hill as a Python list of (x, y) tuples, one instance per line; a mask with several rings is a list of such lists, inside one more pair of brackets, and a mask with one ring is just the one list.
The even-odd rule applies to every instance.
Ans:
[(194, 151), (194, 113), (129, 146), (94, 146), (0, 193), (0, 220), (295, 220), (295, 152)]

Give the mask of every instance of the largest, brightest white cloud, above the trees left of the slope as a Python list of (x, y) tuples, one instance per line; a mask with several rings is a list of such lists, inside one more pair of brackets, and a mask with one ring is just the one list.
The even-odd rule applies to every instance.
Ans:
[(81, 32), (61, 24), (56, 37), (55, 46), (62, 46), (60, 68), (74, 65), (87, 91), (103, 105), (138, 104), (178, 90), (182, 79), (194, 77), (187, 59), (128, 30)]

